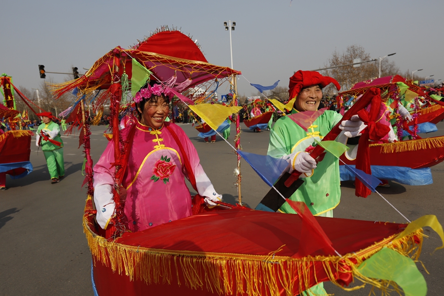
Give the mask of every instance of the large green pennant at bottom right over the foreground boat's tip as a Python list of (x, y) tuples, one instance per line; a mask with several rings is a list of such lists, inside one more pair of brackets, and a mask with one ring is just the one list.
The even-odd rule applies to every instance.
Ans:
[(396, 282), (406, 296), (425, 296), (427, 284), (415, 262), (398, 252), (382, 248), (358, 266), (365, 277)]

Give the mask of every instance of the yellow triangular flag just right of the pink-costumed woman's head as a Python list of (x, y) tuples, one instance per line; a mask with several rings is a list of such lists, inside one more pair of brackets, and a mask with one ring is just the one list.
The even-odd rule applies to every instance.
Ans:
[(188, 105), (188, 107), (214, 130), (218, 129), (226, 117), (242, 109), (240, 106), (228, 107), (219, 104)]

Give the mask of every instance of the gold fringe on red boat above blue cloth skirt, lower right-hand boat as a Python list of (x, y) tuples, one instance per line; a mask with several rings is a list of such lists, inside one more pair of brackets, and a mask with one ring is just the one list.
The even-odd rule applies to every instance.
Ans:
[(380, 153), (397, 153), (406, 151), (426, 150), (444, 147), (444, 136), (400, 141), (395, 143), (370, 144), (370, 147), (379, 146)]

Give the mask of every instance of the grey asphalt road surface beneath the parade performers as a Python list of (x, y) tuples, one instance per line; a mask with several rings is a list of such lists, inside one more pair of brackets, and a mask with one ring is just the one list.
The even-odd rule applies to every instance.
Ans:
[[(236, 156), (218, 137), (216, 143), (205, 143), (197, 137), (191, 124), (180, 124), (195, 145), (201, 164), (228, 203), (237, 202), (237, 188), (233, 184)], [(428, 136), (444, 134), (439, 131)], [(93, 126), (91, 136), (92, 158), (98, 160), (108, 141), (103, 137), (104, 126)], [(265, 154), (268, 133), (253, 133), (242, 124), (241, 143), (247, 152)], [(231, 125), (232, 142), (234, 127)], [(58, 184), (50, 184), (43, 153), (32, 142), (31, 162), (34, 171), (25, 178), (12, 180), (9, 187), (0, 191), (0, 295), (1, 296), (60, 296), (93, 295), (91, 288), (91, 254), (82, 231), (82, 214), (86, 189), (81, 188), (84, 176), (82, 148), (78, 149), (78, 135), (62, 136), (65, 143), (66, 177)], [(406, 159), (408, 161), (408, 159)], [(241, 161), (242, 201), (256, 207), (269, 187), (251, 167)], [(425, 186), (408, 186), (392, 183), (390, 188), (378, 191), (410, 221), (426, 214), (434, 214), (444, 223), (443, 183), (444, 163), (432, 167), (434, 183)], [(190, 187), (190, 186), (189, 186)], [(406, 222), (380, 196), (356, 197), (351, 182), (343, 182), (342, 198), (333, 211), (334, 217), (387, 222)], [(429, 296), (443, 295), (444, 250), (433, 255), (441, 245), (438, 235), (426, 228), (429, 238), (424, 240), (420, 260), (430, 274), (418, 263), (428, 285)], [(359, 283), (357, 283), (359, 284)], [(335, 295), (367, 296), (370, 288), (353, 292), (326, 283), (328, 293)]]

